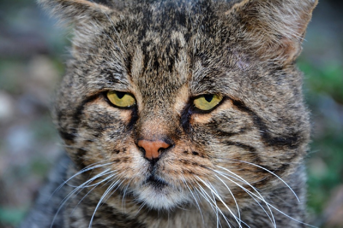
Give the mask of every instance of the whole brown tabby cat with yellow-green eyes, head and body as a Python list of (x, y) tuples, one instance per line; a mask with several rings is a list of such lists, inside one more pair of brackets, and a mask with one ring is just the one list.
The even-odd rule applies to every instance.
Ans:
[(68, 157), (22, 227), (310, 226), (295, 61), (317, 0), (39, 3), (73, 25)]

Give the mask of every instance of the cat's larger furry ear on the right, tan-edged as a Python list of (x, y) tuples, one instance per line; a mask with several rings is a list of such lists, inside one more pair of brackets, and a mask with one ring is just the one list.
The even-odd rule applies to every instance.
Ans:
[(226, 14), (238, 20), (247, 50), (281, 64), (301, 52), (305, 30), (318, 0), (243, 0)]

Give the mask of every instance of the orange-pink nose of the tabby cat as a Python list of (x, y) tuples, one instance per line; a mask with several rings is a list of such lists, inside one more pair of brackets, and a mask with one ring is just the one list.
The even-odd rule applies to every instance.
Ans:
[(137, 145), (145, 150), (145, 158), (149, 160), (157, 159), (163, 150), (171, 146), (162, 140), (139, 140)]

